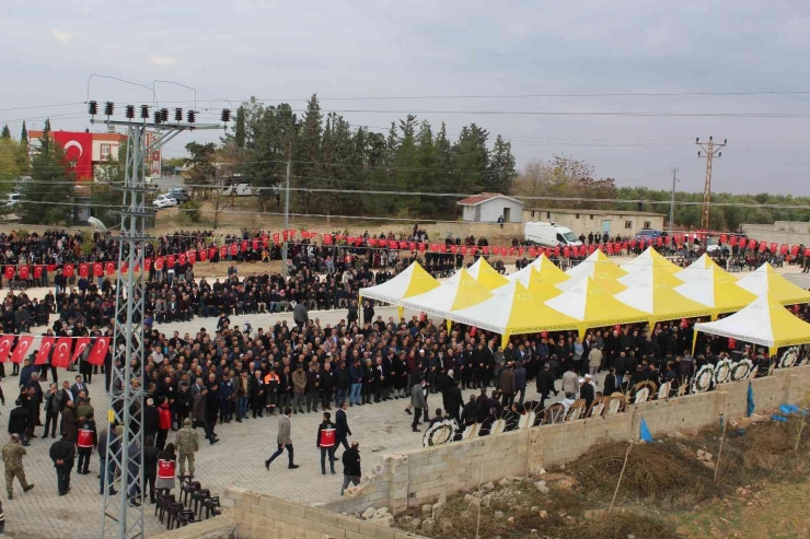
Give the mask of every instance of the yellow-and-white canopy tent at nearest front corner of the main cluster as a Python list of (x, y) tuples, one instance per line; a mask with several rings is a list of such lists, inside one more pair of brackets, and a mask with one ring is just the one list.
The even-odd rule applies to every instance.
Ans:
[(472, 307), (453, 310), (452, 320), (475, 326), (504, 336), (576, 329), (579, 320), (554, 310), (531, 293), (519, 281), (493, 292), (493, 297)]

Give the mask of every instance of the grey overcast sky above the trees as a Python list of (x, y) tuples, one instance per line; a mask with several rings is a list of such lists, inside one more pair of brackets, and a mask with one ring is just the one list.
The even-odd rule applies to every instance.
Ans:
[[(512, 141), (519, 166), (565, 153), (623, 186), (669, 189), (678, 167), (681, 189), (702, 190), (694, 142), (714, 134), (729, 139), (715, 190), (810, 195), (810, 118), (471, 114), (810, 115), (810, 93), (514, 97), (810, 91), (806, 0), (3, 0), (0, 48), (0, 124), (15, 136), (21, 122), (11, 120), (42, 128), (46, 115), (55, 129), (90, 127), (84, 105), (9, 108), (83, 102), (97, 73), (193, 86), (200, 109), (227, 106), (213, 98), (235, 108), (252, 95), (302, 108), (316, 92), (325, 110), (345, 110), (355, 126), (383, 130), (408, 112), (437, 129), (445, 121), (453, 136), (476, 122)], [(158, 83), (157, 92), (163, 106), (193, 106), (184, 87)], [(329, 99), (460, 95), (511, 97)], [(152, 92), (93, 79), (90, 98), (121, 109)], [(165, 154), (182, 154), (189, 140), (178, 137)]]

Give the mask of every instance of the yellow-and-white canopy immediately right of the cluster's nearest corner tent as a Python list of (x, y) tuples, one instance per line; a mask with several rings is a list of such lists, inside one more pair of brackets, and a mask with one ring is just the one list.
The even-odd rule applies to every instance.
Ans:
[(588, 328), (647, 321), (648, 313), (620, 302), (588, 276), (575, 280), (574, 285), (545, 304), (576, 320), (580, 335)]

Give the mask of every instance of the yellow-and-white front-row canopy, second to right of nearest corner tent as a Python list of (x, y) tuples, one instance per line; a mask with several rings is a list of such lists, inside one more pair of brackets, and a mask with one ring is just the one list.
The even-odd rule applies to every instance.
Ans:
[(632, 276), (636, 276), (636, 283), (614, 297), (630, 307), (648, 313), (650, 324), (711, 314), (710, 307), (675, 292), (673, 288), (682, 284), (682, 281), (668, 270), (639, 270)]

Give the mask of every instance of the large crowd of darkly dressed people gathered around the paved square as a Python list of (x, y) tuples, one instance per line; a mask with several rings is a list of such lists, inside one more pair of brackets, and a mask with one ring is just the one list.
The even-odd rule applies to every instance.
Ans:
[[(54, 242), (74, 249), (80, 239), (45, 236), (42, 243), (21, 245), (26, 246), (30, 256), (49, 260)], [(158, 249), (183, 248), (183, 238), (178, 234)], [(220, 435), (228, 435), (231, 422), (279, 417), (280, 424), (287, 426), (279, 427), (277, 452), (265, 465), (269, 468), (287, 452), (288, 467), (296, 469), (290, 418), (323, 414), (317, 432), (322, 472), (335, 471), (336, 449), (344, 446), (345, 489), (357, 484), (360, 476), (359, 447), (348, 443), (349, 408), (401, 400), (403, 413), (413, 414), (414, 431), (419, 431), (420, 424), (451, 418), (460, 425), (481, 423), (486, 433), (487, 425), (501, 418), (509, 429), (516, 427), (528, 400), (533, 400), (533, 409), (540, 412), (552, 394), (562, 392), (560, 402), (571, 406), (578, 398), (592, 401), (614, 391), (632, 392), (645, 380), (672, 382), (671, 390), (676, 391), (703, 364), (717, 363), (729, 354), (750, 358), (760, 366), (760, 375), (766, 374), (774, 361), (763, 351), (741, 344), (738, 348), (728, 339), (704, 335), (697, 339), (699, 353), (693, 356), (692, 328), (681, 320), (651, 328), (630, 325), (592, 329), (581, 339), (575, 331), (513, 336), (504, 349), (499, 336), (477, 328), (456, 325), (449, 331), (444, 325), (417, 316), (385, 320), (375, 315), (370, 302), (357, 304), (357, 290), (384, 282), (419, 255), (397, 256), (393, 263), (386, 260), (384, 267), (372, 271), (373, 250), (355, 260), (340, 253), (333, 257), (331, 253), (336, 248), (296, 246), (287, 278), (241, 278), (238, 260), (231, 261), (227, 277), (212, 283), (195, 279), (190, 266), (173, 274), (159, 274), (157, 270), (150, 273), (144, 297), (147, 315), (139, 320), (144, 328), (143, 356), (135, 359), (132, 365), (132, 372), (139, 374), (132, 384), (143, 387), (149, 396), (142, 410), (147, 484), (146, 492), (127, 493), (130, 503), (141, 503), (147, 493), (153, 501), (155, 492), (173, 488), (177, 460), (180, 473), (185, 473), (187, 465), (193, 476), (199, 436), (216, 444)], [(458, 263), (454, 256), (449, 259), (441, 254), (431, 258), (433, 263), (426, 263), (441, 266), (445, 261)], [(47, 326), (55, 314), (57, 319), (46, 335), (109, 336), (115, 298), (115, 283), (108, 278), (101, 283), (79, 278), (74, 284), (56, 286), (42, 301), (28, 300), (25, 292), (9, 292), (3, 300), (3, 331), (24, 332)], [(233, 315), (279, 313), (298, 305), (303, 307), (303, 316), (296, 312), (293, 324), (278, 320), (254, 332), (248, 325), (240, 328), (230, 323)], [(345, 308), (346, 317), (333, 325), (306, 315), (308, 310), (335, 308)], [(810, 316), (807, 306), (797, 314), (805, 319)], [(201, 325), (199, 331), (181, 336), (178, 331), (166, 335), (154, 326), (194, 317), (218, 317), (216, 329)], [(109, 431), (120, 425), (103, 420), (96, 425), (89, 384), (93, 375), (103, 374), (104, 390), (121, 390), (111, 380), (112, 365), (117, 361), (112, 349), (118, 344), (113, 343), (101, 365), (89, 364), (86, 354), (82, 354), (78, 365), (71, 367), (78, 368), (72, 384), (59, 384), (57, 370), (48, 363), (34, 365), (34, 355), (19, 368), (19, 395), (9, 414), (12, 438), (9, 449), (3, 449), (10, 495), (15, 478), (24, 490), (32, 487), (25, 481), (22, 461), (39, 426), (39, 436), (56, 440), (49, 455), (57, 470), (59, 494), (68, 494), (74, 466), (79, 474), (89, 472), (94, 448), (100, 464), (100, 493), (105, 484), (112, 484), (116, 470), (106, 454), (106, 440)], [(12, 374), (18, 374), (20, 365), (13, 366)], [(48, 384), (43, 385), (45, 382)], [(536, 396), (528, 395), (532, 385)], [(463, 390), (474, 391), (466, 402)], [(131, 411), (139, 412), (140, 408)]]

